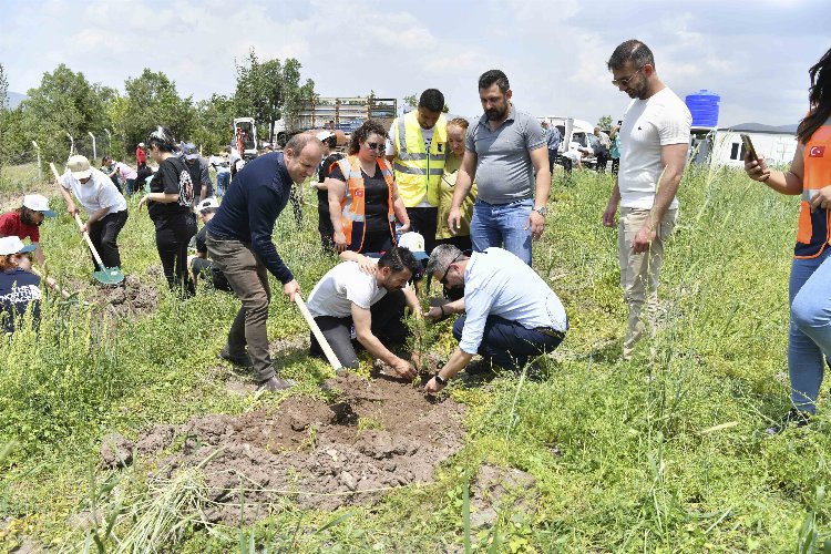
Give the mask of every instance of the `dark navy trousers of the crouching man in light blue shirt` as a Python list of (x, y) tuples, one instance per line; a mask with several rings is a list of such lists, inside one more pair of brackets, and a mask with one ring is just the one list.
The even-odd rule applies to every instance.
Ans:
[[(466, 316), (453, 324), (453, 337), (462, 340)], [(553, 351), (563, 342), (565, 334), (557, 337), (525, 329), (515, 321), (499, 316), (488, 316), (479, 352), (485, 360), (505, 369), (521, 370), (529, 358)]]

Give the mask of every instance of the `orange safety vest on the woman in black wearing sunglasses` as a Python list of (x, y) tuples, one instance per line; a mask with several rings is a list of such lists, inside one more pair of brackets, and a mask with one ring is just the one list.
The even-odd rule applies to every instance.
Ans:
[[(343, 174), (347, 184), (346, 195), (340, 201), (340, 223), (343, 226), (343, 235), (346, 235), (347, 244), (349, 245), (347, 249), (361, 252), (363, 248), (363, 238), (367, 235), (367, 206), (361, 163), (356, 155), (338, 160), (335, 163), (340, 167), (340, 172)], [(392, 191), (396, 186), (396, 179), (392, 176), (392, 170), (390, 170), (390, 166), (387, 165), (383, 158), (378, 158), (378, 165), (381, 167), (381, 175), (383, 175), (387, 188), (389, 189), (387, 196), (387, 216), (390, 223), (392, 244), (396, 244), (396, 233), (392, 227), (396, 220), (396, 213), (392, 209)]]

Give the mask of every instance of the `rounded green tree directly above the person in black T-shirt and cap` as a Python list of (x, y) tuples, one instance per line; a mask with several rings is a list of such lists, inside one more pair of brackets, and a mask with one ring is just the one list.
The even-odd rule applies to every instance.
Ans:
[(165, 125), (176, 140), (185, 140), (196, 129), (192, 96), (179, 98), (176, 83), (163, 72), (145, 68), (141, 75), (124, 82), (126, 105), (113, 110), (116, 133), (123, 136), (125, 153), (135, 152), (156, 125)]

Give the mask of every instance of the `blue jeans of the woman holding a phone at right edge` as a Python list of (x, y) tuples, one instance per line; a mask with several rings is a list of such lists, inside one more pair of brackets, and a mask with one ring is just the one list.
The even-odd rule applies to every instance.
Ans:
[(789, 286), (791, 321), (788, 373), (791, 402), (802, 411), (817, 410), (817, 397), (831, 356), (831, 248), (813, 259), (794, 259)]

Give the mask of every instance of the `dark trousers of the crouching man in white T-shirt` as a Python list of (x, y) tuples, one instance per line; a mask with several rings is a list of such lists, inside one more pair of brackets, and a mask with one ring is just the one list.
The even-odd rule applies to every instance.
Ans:
[[(399, 345), (407, 340), (410, 330), (402, 320), (406, 306), (404, 294), (401, 290), (394, 290), (387, 293), (383, 298), (369, 308), (372, 317), (372, 335), (378, 337), (378, 340), (383, 342), (384, 346)], [(326, 341), (329, 342), (341, 366), (350, 369), (358, 368), (356, 347), (360, 347), (360, 345), (357, 340), (352, 340), (352, 318), (320, 316), (315, 318), (315, 322), (326, 337)], [(311, 334), (309, 353), (324, 357), (324, 350), (314, 332)]]

